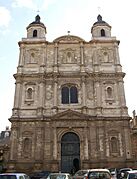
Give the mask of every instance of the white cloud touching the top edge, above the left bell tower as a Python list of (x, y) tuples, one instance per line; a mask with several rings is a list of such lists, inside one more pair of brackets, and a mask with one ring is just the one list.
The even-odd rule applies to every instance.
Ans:
[(33, 10), (37, 9), (37, 6), (33, 0), (14, 0), (12, 7), (25, 7)]

